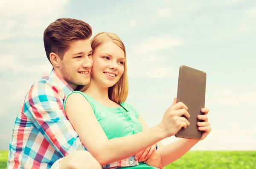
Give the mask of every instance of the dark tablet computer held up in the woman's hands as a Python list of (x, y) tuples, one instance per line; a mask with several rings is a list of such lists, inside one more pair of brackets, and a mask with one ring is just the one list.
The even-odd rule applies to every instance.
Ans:
[[(190, 117), (187, 118), (190, 125), (186, 129), (181, 128), (175, 137), (201, 139), (202, 131), (198, 130), (198, 115), (204, 115), (206, 89), (206, 73), (198, 69), (181, 65), (178, 78), (177, 103), (183, 102), (188, 107)], [(183, 116), (184, 117), (184, 116)]]

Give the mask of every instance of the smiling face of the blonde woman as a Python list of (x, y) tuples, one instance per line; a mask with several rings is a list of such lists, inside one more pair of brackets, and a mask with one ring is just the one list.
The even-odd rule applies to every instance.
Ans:
[(92, 81), (111, 87), (124, 72), (125, 53), (113, 42), (106, 42), (93, 51)]

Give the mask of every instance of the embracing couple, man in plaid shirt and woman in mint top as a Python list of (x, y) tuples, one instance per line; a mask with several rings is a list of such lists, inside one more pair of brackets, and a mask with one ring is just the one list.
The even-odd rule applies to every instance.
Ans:
[(9, 144), (8, 169), (162, 169), (211, 131), (199, 115), (200, 140), (160, 142), (189, 125), (176, 98), (162, 121), (148, 128), (128, 95), (127, 57), (114, 33), (92, 36), (81, 20), (60, 18), (44, 31), (52, 64), (28, 91)]

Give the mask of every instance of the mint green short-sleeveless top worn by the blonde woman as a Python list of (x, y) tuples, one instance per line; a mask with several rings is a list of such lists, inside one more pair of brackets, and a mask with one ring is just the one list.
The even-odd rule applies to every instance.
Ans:
[[(94, 115), (96, 116), (100, 126), (104, 130), (108, 139), (125, 137), (142, 132), (142, 124), (138, 120), (140, 113), (128, 103), (120, 103), (120, 107), (106, 107), (97, 102), (95, 99), (83, 92), (73, 91), (67, 95), (64, 101), (64, 108), (67, 98), (72, 93), (80, 93), (90, 103)], [(121, 167), (125, 169), (157, 169), (144, 163), (139, 166)]]

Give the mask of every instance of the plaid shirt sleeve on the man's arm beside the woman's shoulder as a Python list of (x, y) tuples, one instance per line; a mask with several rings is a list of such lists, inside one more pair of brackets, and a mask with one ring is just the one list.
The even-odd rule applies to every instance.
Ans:
[(29, 90), (24, 114), (62, 157), (86, 150), (67, 119), (58, 90), (48, 80), (38, 81)]

